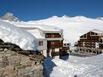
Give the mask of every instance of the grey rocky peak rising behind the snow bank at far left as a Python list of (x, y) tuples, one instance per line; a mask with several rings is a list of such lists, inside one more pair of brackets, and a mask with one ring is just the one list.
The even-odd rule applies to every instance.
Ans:
[(11, 12), (5, 13), (3, 16), (0, 17), (0, 19), (9, 20), (9, 21), (19, 21), (19, 18), (14, 16), (14, 14)]

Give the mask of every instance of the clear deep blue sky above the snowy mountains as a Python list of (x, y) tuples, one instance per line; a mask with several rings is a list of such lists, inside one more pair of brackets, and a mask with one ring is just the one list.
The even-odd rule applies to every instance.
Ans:
[(0, 16), (14, 13), (21, 20), (51, 16), (103, 16), (103, 0), (0, 0)]

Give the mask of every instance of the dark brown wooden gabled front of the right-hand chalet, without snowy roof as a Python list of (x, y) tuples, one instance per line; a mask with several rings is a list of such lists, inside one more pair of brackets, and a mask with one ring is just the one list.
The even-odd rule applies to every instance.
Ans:
[(93, 34), (93, 32), (88, 32), (80, 36), (77, 46), (96, 48), (96, 43), (99, 43), (100, 36), (91, 34)]

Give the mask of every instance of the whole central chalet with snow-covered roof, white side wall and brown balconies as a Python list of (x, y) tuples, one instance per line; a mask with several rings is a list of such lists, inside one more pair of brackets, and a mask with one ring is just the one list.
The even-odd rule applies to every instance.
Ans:
[[(17, 25), (17, 24), (16, 24)], [(67, 53), (69, 47), (63, 45), (63, 30), (48, 25), (18, 24), (18, 27), (27, 30), (37, 38), (37, 49), (44, 56), (55, 56)], [(39, 37), (38, 37), (39, 36)]]

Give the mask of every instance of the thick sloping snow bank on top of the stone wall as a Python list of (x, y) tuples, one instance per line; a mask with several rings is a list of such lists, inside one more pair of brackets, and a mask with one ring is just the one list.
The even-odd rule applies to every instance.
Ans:
[(0, 39), (17, 44), (24, 50), (36, 50), (34, 36), (2, 20), (0, 20)]

